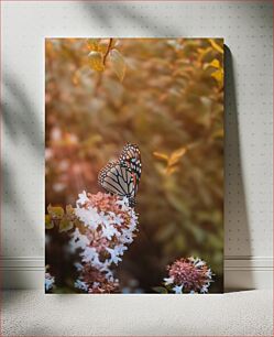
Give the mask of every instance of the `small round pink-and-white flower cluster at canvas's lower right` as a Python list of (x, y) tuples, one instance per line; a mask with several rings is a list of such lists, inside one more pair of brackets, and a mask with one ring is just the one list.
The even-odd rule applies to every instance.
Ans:
[(165, 286), (175, 294), (207, 293), (212, 282), (212, 272), (199, 258), (179, 259), (167, 267)]

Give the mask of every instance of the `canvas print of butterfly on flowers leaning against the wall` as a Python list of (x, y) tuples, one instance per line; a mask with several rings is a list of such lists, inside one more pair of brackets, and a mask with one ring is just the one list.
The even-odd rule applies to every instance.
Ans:
[(45, 292), (223, 291), (223, 40), (45, 40)]

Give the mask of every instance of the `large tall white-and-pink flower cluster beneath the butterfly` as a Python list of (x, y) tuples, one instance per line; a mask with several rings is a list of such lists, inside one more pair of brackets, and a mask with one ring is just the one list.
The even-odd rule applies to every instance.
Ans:
[(88, 293), (113, 293), (119, 287), (112, 268), (122, 261), (136, 232), (138, 216), (128, 198), (106, 193), (83, 192), (75, 215), (81, 221), (70, 239), (73, 251), (80, 249), (75, 286)]

